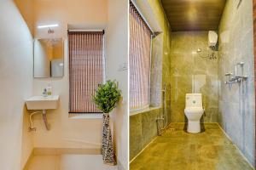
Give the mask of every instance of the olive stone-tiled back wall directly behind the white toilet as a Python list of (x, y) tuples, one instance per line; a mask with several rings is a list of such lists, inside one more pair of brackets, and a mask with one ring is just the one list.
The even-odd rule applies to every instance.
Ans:
[[(201, 93), (205, 114), (201, 122), (218, 122), (217, 59), (208, 48), (207, 31), (172, 32), (171, 121), (186, 122), (185, 95)], [(201, 53), (196, 53), (201, 48)]]

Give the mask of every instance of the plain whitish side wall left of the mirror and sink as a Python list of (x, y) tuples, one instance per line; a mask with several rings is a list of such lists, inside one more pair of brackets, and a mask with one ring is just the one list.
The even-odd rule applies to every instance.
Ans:
[(0, 3), (0, 169), (20, 170), (32, 152), (24, 105), (32, 95), (32, 36), (14, 1)]

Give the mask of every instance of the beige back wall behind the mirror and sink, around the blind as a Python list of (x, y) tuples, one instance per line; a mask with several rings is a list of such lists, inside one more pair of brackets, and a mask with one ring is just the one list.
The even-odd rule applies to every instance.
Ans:
[[(37, 132), (33, 135), (35, 147), (55, 148), (100, 148), (102, 141), (102, 119), (68, 117), (68, 54), (67, 25), (86, 28), (105, 27), (108, 21), (106, 0), (36, 0), (34, 4), (35, 37), (62, 37), (64, 39), (64, 77), (33, 80), (33, 94), (40, 95), (47, 82), (52, 82), (53, 94), (59, 94), (60, 106), (49, 111), (50, 131), (46, 131), (42, 116), (35, 116)], [(58, 23), (55, 33), (48, 35), (47, 29), (38, 30), (38, 25)]]

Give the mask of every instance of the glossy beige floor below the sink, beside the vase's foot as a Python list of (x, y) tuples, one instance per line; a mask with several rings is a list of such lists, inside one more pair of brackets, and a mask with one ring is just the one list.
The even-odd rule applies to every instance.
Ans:
[(26, 170), (117, 170), (103, 164), (101, 155), (33, 156)]

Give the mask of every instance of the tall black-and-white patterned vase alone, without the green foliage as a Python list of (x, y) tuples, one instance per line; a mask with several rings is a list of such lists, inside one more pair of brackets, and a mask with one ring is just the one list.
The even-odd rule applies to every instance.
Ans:
[(112, 135), (109, 127), (109, 113), (103, 113), (102, 156), (105, 164), (116, 164), (113, 152)]

